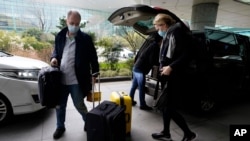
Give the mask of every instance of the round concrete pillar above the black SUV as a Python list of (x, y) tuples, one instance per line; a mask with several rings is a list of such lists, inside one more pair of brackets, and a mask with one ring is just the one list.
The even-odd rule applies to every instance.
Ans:
[(203, 30), (215, 26), (219, 0), (193, 0), (191, 29)]

